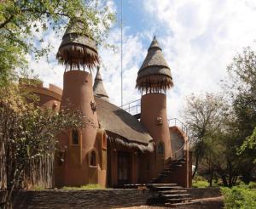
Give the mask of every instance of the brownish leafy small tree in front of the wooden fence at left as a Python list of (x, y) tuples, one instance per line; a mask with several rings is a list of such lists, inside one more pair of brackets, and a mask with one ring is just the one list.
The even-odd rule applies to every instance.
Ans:
[(13, 85), (0, 90), (0, 133), (5, 150), (7, 193), (4, 208), (11, 208), (15, 187), (24, 179), (26, 168), (40, 157), (54, 155), (56, 135), (67, 128), (83, 128), (90, 120), (78, 111), (44, 110), (28, 103), (27, 93)]

